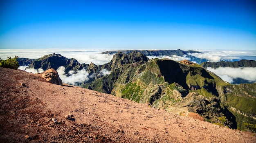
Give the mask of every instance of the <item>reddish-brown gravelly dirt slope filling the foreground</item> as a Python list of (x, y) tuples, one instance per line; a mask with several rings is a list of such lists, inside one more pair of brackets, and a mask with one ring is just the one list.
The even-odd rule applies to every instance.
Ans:
[(0, 142), (255, 143), (256, 136), (0, 68)]

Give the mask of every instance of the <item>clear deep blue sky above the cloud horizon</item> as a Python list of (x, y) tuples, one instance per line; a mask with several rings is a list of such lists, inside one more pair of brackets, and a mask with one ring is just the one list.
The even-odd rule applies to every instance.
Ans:
[(1, 0), (0, 48), (256, 49), (256, 1)]

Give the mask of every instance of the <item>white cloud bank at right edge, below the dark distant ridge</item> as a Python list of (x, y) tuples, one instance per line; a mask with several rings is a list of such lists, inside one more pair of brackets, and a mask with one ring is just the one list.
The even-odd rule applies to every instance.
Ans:
[(251, 82), (256, 82), (256, 67), (244, 67), (244, 68), (230, 68), (220, 67), (211, 68), (207, 67), (207, 70), (218, 75), (223, 80), (232, 84), (234, 78), (242, 78)]

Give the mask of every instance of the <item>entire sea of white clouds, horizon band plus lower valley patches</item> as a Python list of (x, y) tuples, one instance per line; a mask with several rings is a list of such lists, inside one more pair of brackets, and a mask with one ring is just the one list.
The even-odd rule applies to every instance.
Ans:
[[(74, 58), (79, 63), (90, 64), (91, 62), (96, 65), (106, 64), (111, 61), (113, 55), (110, 54), (101, 54), (104, 51), (86, 51), (81, 49), (0, 49), (0, 57), (1, 59), (7, 59), (8, 56), (14, 57), (25, 57), (29, 59), (38, 59), (43, 57), (44, 55), (58, 53), (67, 58)], [(200, 51), (202, 53), (189, 53), (188, 55), (193, 55), (198, 58), (207, 59), (208, 62), (220, 62), (224, 61), (232, 61), (234, 59), (250, 59), (256, 60), (256, 50), (247, 50), (247, 51)], [(148, 58), (168, 58), (175, 61), (181, 61), (184, 59), (190, 60), (187, 55), (183, 56), (148, 56)], [(193, 61), (192, 61), (193, 62)], [(80, 82), (81, 80), (86, 81), (89, 79), (88, 73), (85, 70), (80, 70), (78, 73), (72, 73), (70, 71), (70, 76), (65, 75), (63, 71), (64, 67), (59, 67), (58, 73), (63, 80), (64, 83), (74, 84), (76, 82)], [(27, 66), (20, 66), (19, 69), (25, 70), (31, 73), (41, 73), (42, 69), (29, 69)], [(207, 70), (212, 71), (223, 80), (228, 81), (229, 83), (233, 83), (235, 78), (242, 78), (248, 81), (256, 82), (256, 68), (207, 68)], [(109, 71), (103, 70), (101, 71), (102, 75), (110, 74)], [(82, 82), (82, 81), (81, 81)]]

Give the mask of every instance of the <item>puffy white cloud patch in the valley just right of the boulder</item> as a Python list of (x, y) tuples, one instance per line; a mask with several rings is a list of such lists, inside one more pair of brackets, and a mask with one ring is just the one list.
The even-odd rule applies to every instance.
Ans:
[(71, 73), (72, 75), (67, 76), (65, 74), (65, 67), (60, 66), (58, 67), (57, 72), (62, 82), (66, 84), (74, 85), (76, 82), (83, 82), (89, 80), (89, 73), (85, 69), (79, 70), (77, 73), (74, 73), (74, 71), (70, 70), (69, 73)]

